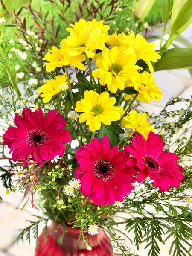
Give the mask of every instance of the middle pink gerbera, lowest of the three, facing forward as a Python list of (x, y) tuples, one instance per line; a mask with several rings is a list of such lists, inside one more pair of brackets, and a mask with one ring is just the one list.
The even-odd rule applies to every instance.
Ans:
[(90, 144), (80, 146), (76, 151), (79, 167), (75, 170), (76, 179), (81, 180), (80, 191), (89, 196), (94, 204), (114, 204), (123, 201), (135, 182), (134, 175), (137, 170), (126, 164), (129, 154), (119, 151), (118, 146), (110, 149), (107, 136), (101, 143), (93, 138)]

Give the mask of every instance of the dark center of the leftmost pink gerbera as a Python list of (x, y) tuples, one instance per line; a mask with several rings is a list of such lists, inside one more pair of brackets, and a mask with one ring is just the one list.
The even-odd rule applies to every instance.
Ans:
[(26, 143), (30, 146), (39, 147), (49, 140), (49, 136), (41, 129), (28, 131)]

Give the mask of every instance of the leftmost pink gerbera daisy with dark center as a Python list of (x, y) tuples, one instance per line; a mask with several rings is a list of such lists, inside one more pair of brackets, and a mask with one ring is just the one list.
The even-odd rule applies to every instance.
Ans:
[(3, 144), (13, 152), (13, 161), (21, 159), (26, 165), (30, 154), (37, 163), (63, 155), (63, 143), (70, 142), (71, 137), (70, 131), (63, 129), (67, 122), (62, 120), (61, 114), (51, 110), (43, 118), (41, 108), (35, 112), (23, 108), (22, 116), (15, 113), (16, 127), (9, 127), (3, 134)]

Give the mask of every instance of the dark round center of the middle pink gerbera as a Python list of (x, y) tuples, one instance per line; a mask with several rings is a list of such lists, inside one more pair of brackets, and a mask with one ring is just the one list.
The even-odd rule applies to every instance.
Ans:
[(109, 181), (115, 173), (115, 168), (111, 161), (101, 158), (93, 163), (93, 172), (96, 177)]

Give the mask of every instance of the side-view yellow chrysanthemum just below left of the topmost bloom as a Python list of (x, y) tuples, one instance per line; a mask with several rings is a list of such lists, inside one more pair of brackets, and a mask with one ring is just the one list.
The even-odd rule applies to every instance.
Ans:
[(66, 52), (62, 52), (61, 49), (58, 49), (56, 46), (52, 46), (52, 50), (48, 50), (50, 53), (47, 53), (43, 60), (49, 61), (49, 63), (44, 63), (46, 66), (46, 71), (50, 72), (56, 67), (63, 66), (74, 66), (81, 70), (86, 70), (84, 64), (81, 62), (84, 61), (84, 57), (79, 55), (76, 58), (67, 55)]

